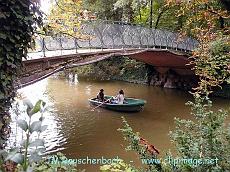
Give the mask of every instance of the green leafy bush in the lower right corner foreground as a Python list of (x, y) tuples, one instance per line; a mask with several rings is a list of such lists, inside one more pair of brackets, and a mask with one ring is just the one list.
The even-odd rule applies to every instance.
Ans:
[(170, 132), (176, 144), (178, 155), (182, 158), (218, 159), (217, 164), (202, 164), (190, 167), (193, 171), (226, 171), (230, 169), (230, 126), (224, 121), (227, 111), (213, 111), (208, 97), (194, 95), (191, 106), (191, 120), (175, 119), (176, 129)]

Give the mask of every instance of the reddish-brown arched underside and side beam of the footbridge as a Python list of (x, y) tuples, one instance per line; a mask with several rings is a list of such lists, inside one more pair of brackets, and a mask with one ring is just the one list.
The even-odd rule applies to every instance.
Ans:
[(194, 75), (191, 66), (187, 65), (189, 60), (185, 54), (176, 54), (168, 50), (123, 49), (26, 60), (23, 62), (24, 68), (21, 77), (15, 84), (16, 87), (24, 87), (64, 69), (87, 65), (116, 56), (129, 56), (150, 64), (160, 74), (174, 71), (181, 76)]

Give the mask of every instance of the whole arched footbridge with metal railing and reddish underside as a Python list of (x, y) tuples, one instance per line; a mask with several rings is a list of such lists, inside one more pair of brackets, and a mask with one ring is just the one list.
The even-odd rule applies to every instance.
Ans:
[(30, 51), (23, 61), (16, 86), (24, 87), (64, 69), (116, 56), (143, 61), (160, 73), (173, 70), (179, 75), (193, 74), (186, 64), (198, 42), (179, 38), (178, 33), (109, 21), (83, 23), (76, 33), (78, 37), (37, 37), (36, 50)]

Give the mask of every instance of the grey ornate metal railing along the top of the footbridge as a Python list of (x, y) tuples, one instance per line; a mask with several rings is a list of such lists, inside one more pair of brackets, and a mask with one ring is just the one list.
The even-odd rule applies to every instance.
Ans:
[(88, 21), (81, 24), (76, 32), (81, 37), (43, 37), (36, 39), (36, 50), (43, 52), (56, 50), (85, 49), (125, 49), (155, 48), (173, 49), (176, 51), (192, 51), (198, 42), (192, 38), (178, 40), (179, 35), (166, 30), (150, 29), (140, 25), (124, 22)]

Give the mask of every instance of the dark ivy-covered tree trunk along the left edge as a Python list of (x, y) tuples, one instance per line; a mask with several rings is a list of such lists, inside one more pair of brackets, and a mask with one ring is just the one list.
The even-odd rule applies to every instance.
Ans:
[[(22, 66), (22, 58), (26, 58), (28, 48), (33, 47), (32, 36), (42, 24), (42, 14), (38, 9), (39, 4), (36, 0), (1, 0), (0, 135), (2, 137), (9, 133), (5, 119), (10, 118), (8, 109), (15, 96), (13, 84)], [(2, 141), (0, 144), (2, 147)]]

